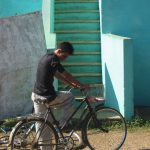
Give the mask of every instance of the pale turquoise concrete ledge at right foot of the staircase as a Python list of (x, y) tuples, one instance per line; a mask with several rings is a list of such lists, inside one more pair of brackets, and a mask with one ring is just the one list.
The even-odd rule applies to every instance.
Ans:
[(102, 34), (102, 77), (106, 105), (126, 118), (133, 116), (132, 39)]

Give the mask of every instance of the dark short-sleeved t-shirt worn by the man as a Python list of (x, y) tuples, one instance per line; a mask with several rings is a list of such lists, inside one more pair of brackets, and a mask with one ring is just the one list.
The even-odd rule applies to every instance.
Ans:
[(56, 71), (65, 71), (58, 57), (54, 53), (44, 55), (38, 64), (34, 93), (46, 98), (55, 97), (53, 81)]

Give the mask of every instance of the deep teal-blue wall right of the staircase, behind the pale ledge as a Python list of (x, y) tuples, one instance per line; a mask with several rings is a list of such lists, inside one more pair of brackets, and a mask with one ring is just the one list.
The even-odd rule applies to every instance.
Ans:
[(150, 0), (99, 0), (102, 33), (133, 39), (134, 104), (150, 106)]

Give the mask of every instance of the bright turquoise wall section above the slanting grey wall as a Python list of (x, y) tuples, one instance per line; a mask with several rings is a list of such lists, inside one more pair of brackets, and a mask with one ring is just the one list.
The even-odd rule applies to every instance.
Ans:
[(0, 18), (42, 10), (42, 0), (0, 0)]

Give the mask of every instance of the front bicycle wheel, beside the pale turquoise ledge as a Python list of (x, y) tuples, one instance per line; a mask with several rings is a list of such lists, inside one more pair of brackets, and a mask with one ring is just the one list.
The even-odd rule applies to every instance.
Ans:
[(97, 107), (95, 114), (96, 119), (91, 113), (85, 118), (82, 129), (84, 142), (91, 150), (119, 150), (127, 135), (125, 119), (110, 107)]

